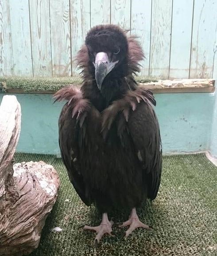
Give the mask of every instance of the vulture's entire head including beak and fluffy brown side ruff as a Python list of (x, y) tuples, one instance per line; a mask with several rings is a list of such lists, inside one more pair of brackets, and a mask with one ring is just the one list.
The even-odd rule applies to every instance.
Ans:
[(143, 51), (135, 37), (127, 37), (120, 27), (109, 24), (93, 27), (87, 33), (77, 62), (101, 90), (105, 78), (118, 79), (139, 71), (137, 64), (142, 58)]

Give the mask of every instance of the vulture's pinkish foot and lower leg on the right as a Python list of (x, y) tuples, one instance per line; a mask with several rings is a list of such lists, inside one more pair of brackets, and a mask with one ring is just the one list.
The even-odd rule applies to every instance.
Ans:
[(132, 231), (136, 228), (144, 228), (144, 229), (151, 229), (150, 226), (143, 224), (140, 220), (139, 217), (136, 213), (136, 208), (132, 209), (132, 212), (130, 214), (130, 217), (128, 219), (128, 221), (125, 221), (122, 225), (120, 225), (119, 227), (126, 227), (126, 226), (130, 226), (128, 228), (128, 230), (126, 231), (126, 237), (128, 237), (129, 234), (132, 233)]

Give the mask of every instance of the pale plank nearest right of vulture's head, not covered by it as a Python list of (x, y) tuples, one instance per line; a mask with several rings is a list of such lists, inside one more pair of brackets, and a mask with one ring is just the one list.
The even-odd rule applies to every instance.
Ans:
[(152, 76), (169, 77), (172, 0), (152, 0), (150, 70)]

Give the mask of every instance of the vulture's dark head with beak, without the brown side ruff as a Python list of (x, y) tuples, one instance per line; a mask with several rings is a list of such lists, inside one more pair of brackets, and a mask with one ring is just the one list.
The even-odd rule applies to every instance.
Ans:
[(112, 70), (113, 75), (117, 73), (115, 71), (120, 73), (120, 67), (127, 62), (127, 37), (118, 26), (100, 25), (88, 32), (85, 45), (98, 88), (101, 89), (105, 77)]

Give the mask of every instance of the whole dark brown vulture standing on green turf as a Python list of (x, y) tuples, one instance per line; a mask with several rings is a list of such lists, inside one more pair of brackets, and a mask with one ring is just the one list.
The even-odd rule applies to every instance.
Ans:
[(131, 211), (121, 227), (128, 236), (140, 221), (136, 208), (155, 199), (160, 184), (162, 147), (153, 93), (139, 86), (143, 50), (136, 36), (116, 25), (98, 25), (86, 35), (76, 60), (81, 89), (69, 85), (54, 94), (66, 101), (59, 116), (59, 147), (70, 182), (81, 198), (102, 214), (95, 245), (112, 235), (112, 209)]

